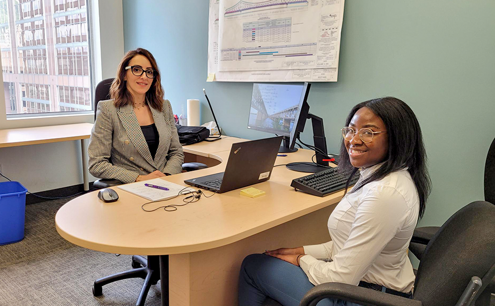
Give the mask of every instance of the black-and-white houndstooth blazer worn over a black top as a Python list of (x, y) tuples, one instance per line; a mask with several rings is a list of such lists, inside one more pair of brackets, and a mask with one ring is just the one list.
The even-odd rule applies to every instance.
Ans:
[(149, 109), (159, 134), (154, 160), (132, 104), (117, 108), (113, 100), (98, 103), (88, 146), (88, 168), (93, 176), (126, 184), (155, 170), (166, 174), (182, 171), (184, 152), (169, 100), (163, 101), (162, 112), (151, 106)]

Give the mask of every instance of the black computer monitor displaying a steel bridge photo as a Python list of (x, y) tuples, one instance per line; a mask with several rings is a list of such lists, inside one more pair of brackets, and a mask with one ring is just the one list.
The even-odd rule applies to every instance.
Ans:
[(308, 83), (253, 83), (247, 128), (284, 136), (279, 152), (295, 152), (291, 144), (294, 123), (307, 98)]

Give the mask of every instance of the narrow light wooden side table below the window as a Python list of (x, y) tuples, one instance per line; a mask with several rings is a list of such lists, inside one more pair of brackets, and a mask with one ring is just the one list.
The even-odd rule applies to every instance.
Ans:
[(13, 128), (0, 130), (0, 147), (21, 146), (69, 140), (81, 141), (82, 180), (84, 190), (90, 190), (88, 182), (88, 151), (84, 139), (90, 138), (92, 123)]

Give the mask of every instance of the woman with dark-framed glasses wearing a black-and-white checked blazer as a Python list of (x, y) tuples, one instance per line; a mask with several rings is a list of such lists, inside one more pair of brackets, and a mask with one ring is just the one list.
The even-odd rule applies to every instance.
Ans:
[(163, 95), (153, 55), (128, 51), (110, 88), (112, 99), (98, 103), (88, 146), (93, 176), (125, 184), (182, 171), (184, 152)]

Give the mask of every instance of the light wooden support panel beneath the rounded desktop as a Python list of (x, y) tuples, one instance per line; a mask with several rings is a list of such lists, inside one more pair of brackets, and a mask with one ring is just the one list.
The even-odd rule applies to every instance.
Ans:
[(265, 250), (329, 241), (327, 221), (334, 207), (322, 208), (220, 248), (170, 255), (170, 305), (236, 306), (239, 269), (244, 257)]

